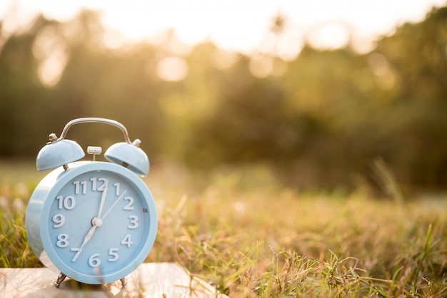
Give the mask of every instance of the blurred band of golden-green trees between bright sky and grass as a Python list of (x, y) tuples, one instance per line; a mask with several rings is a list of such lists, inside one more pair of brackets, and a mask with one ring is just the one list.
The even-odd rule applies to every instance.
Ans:
[[(289, 185), (355, 189), (359, 180), (374, 185), (371, 166), (383, 158), (403, 192), (442, 188), (446, 11), (403, 24), (371, 53), (306, 45), (293, 61), (260, 56), (286, 70), (265, 78), (251, 74), (253, 57), (225, 56), (210, 43), (184, 49), (172, 31), (157, 46), (111, 49), (94, 12), (66, 23), (40, 17), (29, 30), (2, 36), (0, 155), (35, 156), (49, 133), (73, 118), (96, 116), (124, 123), (151, 160), (205, 170), (262, 162), (286, 173)], [(60, 81), (48, 86), (38, 73), (56, 45), (66, 64)], [(172, 56), (187, 63), (184, 80), (157, 74)], [(69, 138), (108, 147), (120, 138), (113, 132), (76, 127)]]

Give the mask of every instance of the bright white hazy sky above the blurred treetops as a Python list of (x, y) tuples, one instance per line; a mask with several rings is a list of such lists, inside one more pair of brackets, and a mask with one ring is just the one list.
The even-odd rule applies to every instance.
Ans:
[[(304, 37), (317, 48), (337, 48), (351, 36), (358, 51), (368, 51), (397, 25), (422, 21), (433, 6), (445, 5), (447, 0), (1, 0), (0, 18), (7, 34), (39, 13), (68, 21), (81, 9), (93, 9), (112, 36), (125, 40), (156, 41), (174, 29), (188, 45), (212, 41), (243, 53), (269, 51), (276, 40), (274, 51), (287, 59), (299, 53), (296, 41)], [(280, 37), (268, 34), (278, 14), (285, 18)]]

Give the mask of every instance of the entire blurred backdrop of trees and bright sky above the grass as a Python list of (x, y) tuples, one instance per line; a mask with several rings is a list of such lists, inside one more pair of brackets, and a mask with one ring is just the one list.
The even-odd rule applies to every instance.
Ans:
[(404, 190), (447, 186), (445, 1), (60, 2), (0, 4), (2, 159), (103, 117), (153, 167), (263, 165), (347, 190), (380, 188), (385, 167)]

